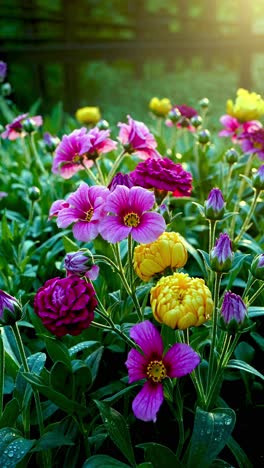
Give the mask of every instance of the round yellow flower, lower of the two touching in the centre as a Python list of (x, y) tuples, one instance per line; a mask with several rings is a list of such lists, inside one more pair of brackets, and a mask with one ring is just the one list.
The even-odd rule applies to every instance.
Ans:
[(158, 322), (180, 330), (202, 325), (213, 311), (211, 292), (204, 280), (186, 273), (163, 276), (150, 291), (150, 303)]

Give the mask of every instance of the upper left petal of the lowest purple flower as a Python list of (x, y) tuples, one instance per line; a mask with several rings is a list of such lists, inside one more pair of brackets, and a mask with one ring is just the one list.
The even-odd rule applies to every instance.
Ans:
[(140, 346), (147, 358), (162, 358), (162, 338), (157, 328), (149, 320), (134, 325), (130, 329), (130, 337)]

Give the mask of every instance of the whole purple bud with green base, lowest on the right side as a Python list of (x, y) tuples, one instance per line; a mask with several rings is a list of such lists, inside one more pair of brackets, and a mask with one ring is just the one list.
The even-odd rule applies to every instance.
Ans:
[(247, 308), (243, 300), (237, 294), (227, 291), (224, 296), (220, 326), (231, 334), (244, 328)]

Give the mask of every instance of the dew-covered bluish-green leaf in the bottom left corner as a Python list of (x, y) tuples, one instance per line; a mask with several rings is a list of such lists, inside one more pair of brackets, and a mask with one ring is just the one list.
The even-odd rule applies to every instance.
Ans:
[(0, 430), (0, 466), (15, 468), (34, 445), (34, 440), (24, 439), (11, 427)]

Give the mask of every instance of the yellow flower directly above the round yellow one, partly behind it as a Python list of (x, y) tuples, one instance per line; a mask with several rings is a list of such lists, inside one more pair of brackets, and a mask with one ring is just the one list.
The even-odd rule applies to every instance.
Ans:
[(188, 254), (184, 239), (177, 232), (164, 232), (150, 244), (141, 244), (134, 250), (134, 269), (143, 281), (149, 281), (166, 268), (181, 268)]

